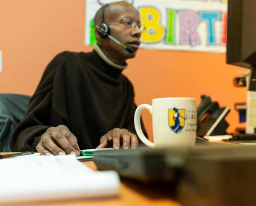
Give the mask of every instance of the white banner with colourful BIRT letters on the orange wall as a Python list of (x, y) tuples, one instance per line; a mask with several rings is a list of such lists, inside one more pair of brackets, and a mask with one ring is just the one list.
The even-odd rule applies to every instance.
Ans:
[[(94, 16), (115, 0), (85, 0), (85, 45), (96, 43)], [(146, 31), (141, 48), (225, 53), (227, 0), (127, 0), (140, 12)]]

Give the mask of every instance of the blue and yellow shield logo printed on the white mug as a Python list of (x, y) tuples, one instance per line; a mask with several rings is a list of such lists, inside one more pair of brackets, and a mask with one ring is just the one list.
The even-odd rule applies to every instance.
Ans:
[(169, 126), (176, 134), (182, 131), (185, 126), (185, 109), (169, 109)]

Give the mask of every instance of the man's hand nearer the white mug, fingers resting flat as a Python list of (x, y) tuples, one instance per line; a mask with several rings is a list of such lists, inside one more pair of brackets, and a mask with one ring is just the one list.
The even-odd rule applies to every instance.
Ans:
[(135, 134), (130, 133), (127, 129), (115, 128), (100, 138), (98, 148), (106, 148), (108, 145), (114, 149), (119, 149), (123, 143), (123, 149), (136, 149), (138, 147), (138, 138)]

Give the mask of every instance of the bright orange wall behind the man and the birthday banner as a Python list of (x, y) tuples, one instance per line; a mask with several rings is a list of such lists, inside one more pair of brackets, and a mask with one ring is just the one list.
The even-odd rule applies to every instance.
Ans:
[[(46, 65), (64, 50), (89, 52), (84, 45), (84, 0), (1, 0), (0, 50), (3, 72), (0, 92), (32, 95)], [(235, 88), (237, 71), (225, 64), (224, 54), (141, 49), (124, 72), (135, 88), (138, 105), (158, 97), (194, 97), (209, 94), (220, 106), (228, 106), (228, 129), (238, 124), (235, 102), (246, 100), (246, 89)], [(150, 139), (152, 119), (143, 112)], [(242, 126), (245, 126), (242, 124)]]

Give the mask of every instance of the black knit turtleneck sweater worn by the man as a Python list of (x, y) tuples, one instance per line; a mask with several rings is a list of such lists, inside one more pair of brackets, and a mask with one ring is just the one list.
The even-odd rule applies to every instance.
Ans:
[(35, 150), (41, 135), (58, 125), (69, 128), (80, 149), (96, 148), (101, 136), (114, 128), (136, 134), (134, 91), (121, 73), (95, 50), (58, 54), (44, 71), (24, 119), (13, 132), (12, 151)]

